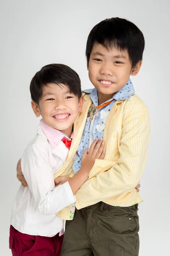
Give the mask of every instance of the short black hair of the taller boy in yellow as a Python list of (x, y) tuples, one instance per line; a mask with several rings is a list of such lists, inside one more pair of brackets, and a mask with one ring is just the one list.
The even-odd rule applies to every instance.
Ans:
[(89, 64), (90, 54), (94, 43), (102, 44), (106, 49), (116, 47), (127, 49), (132, 68), (142, 61), (144, 51), (144, 35), (132, 22), (119, 17), (102, 20), (91, 30), (87, 44), (86, 57)]

